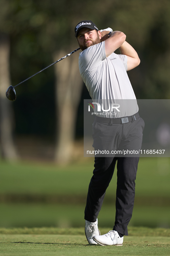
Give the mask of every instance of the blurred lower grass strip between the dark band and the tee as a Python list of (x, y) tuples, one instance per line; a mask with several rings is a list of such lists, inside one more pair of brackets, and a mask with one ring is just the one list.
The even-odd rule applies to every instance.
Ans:
[[(0, 227), (83, 227), (85, 205), (1, 203)], [(170, 207), (134, 206), (129, 226), (170, 227)], [(100, 227), (114, 226), (115, 206), (103, 203)]]

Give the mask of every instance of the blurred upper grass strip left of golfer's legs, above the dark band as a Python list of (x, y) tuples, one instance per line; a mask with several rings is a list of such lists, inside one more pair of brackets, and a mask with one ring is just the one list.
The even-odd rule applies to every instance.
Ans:
[(47, 163), (1, 162), (0, 166), (0, 193), (4, 194), (86, 193), (93, 169), (91, 163), (61, 167)]

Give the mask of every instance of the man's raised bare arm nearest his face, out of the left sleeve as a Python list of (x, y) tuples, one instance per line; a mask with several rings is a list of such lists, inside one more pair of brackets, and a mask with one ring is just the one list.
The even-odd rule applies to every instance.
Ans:
[(101, 42), (105, 41), (105, 52), (106, 57), (108, 57), (110, 54), (112, 54), (116, 49), (118, 49), (126, 39), (126, 35), (121, 31), (113, 31), (110, 33), (110, 36), (108, 38), (108, 34), (110, 31), (102, 31), (101, 32)]

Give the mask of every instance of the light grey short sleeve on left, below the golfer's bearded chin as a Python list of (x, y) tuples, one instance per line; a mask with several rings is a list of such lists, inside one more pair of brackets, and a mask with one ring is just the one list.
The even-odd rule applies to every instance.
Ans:
[(79, 63), (84, 69), (93, 70), (106, 59), (105, 42), (88, 47), (79, 55)]

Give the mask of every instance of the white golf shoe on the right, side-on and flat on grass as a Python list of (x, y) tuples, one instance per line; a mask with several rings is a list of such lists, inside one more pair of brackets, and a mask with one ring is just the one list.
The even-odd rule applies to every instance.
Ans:
[(120, 237), (117, 231), (110, 230), (102, 236), (94, 236), (93, 240), (100, 245), (123, 245), (123, 237)]

